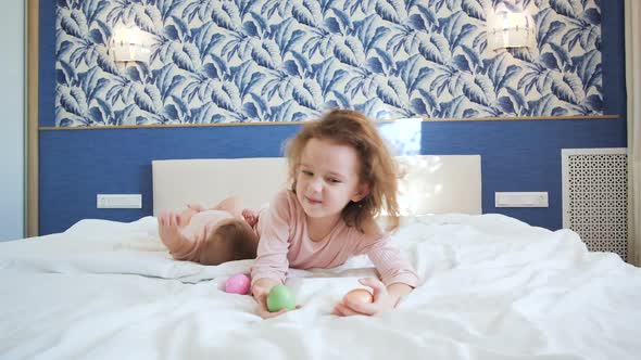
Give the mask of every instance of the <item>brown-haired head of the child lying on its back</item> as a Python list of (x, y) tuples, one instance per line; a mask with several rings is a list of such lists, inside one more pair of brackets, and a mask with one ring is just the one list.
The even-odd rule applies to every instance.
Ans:
[(221, 265), (256, 257), (259, 237), (243, 219), (223, 220), (208, 233), (200, 253), (200, 263)]

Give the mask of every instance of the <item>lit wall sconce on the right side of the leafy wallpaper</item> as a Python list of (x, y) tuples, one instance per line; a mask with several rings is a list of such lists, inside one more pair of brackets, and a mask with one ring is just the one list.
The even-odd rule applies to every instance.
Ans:
[(490, 12), (488, 17), (488, 47), (492, 50), (536, 48), (535, 20), (527, 13)]

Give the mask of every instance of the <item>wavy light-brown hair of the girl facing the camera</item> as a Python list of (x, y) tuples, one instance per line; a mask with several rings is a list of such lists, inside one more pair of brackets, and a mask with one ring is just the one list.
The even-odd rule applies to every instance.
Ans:
[(319, 120), (306, 123), (289, 141), (286, 150), (293, 192), (303, 149), (310, 139), (351, 145), (359, 154), (360, 180), (369, 185), (369, 194), (360, 202), (350, 202), (345, 206), (341, 214), (345, 223), (364, 231), (365, 226), (385, 208), (388, 216), (387, 230), (395, 230), (399, 227), (397, 163), (374, 123), (365, 115), (350, 110), (335, 110)]

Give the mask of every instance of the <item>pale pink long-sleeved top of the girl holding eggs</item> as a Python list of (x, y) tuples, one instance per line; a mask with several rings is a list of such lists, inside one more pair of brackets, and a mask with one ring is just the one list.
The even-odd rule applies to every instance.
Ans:
[(269, 207), (261, 211), (256, 230), (260, 242), (251, 269), (252, 284), (263, 278), (284, 282), (289, 267), (334, 268), (362, 254), (369, 257), (386, 285), (418, 284), (412, 266), (382, 232), (367, 235), (341, 220), (323, 240), (312, 241), (305, 213), (291, 191), (279, 192)]

